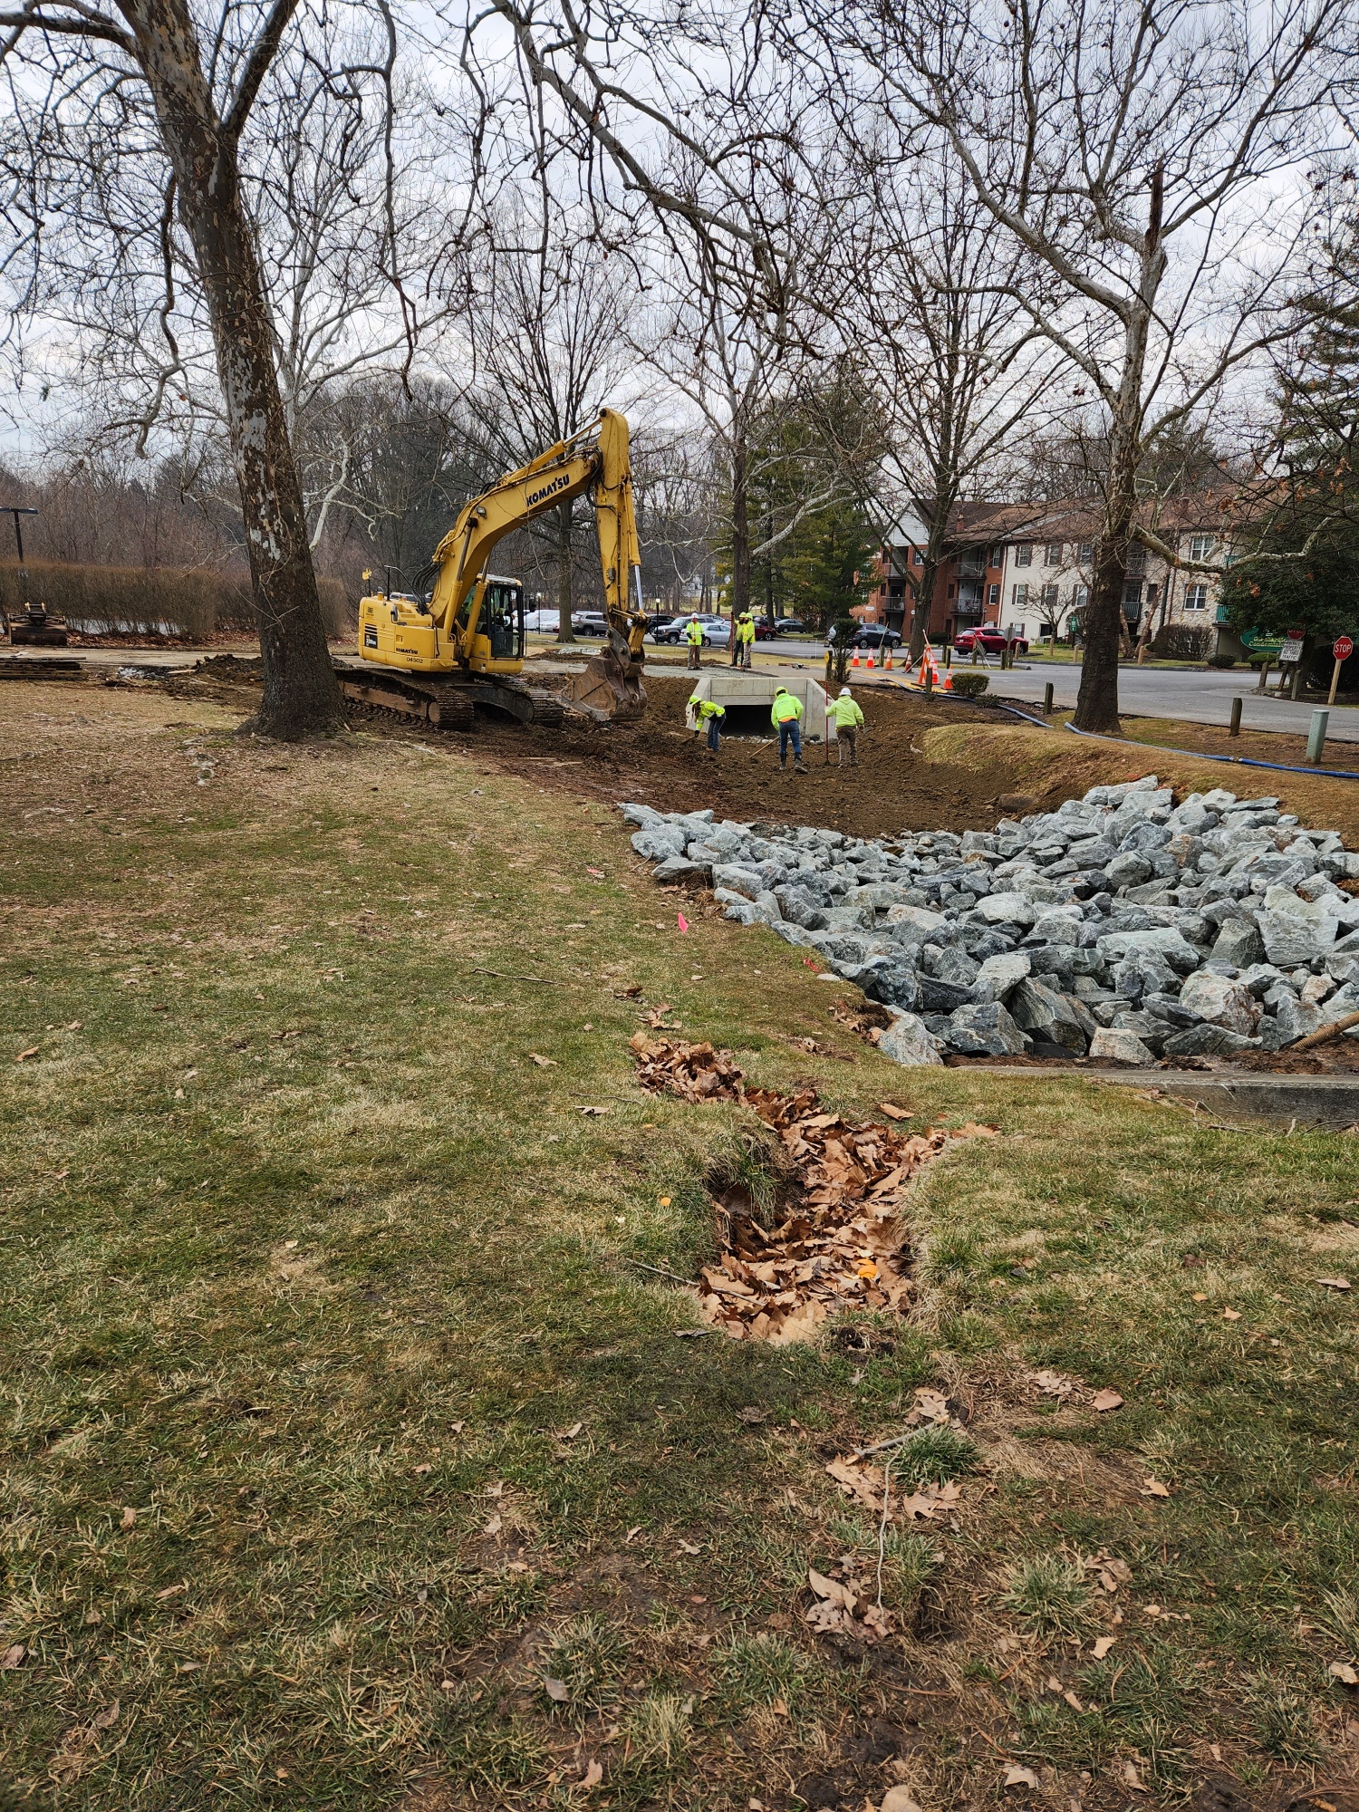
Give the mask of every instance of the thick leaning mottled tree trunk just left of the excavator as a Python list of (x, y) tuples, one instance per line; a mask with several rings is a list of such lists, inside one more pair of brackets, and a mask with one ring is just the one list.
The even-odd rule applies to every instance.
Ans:
[(187, 9), (167, 0), (127, 5), (125, 16), (156, 101), (179, 217), (194, 243), (241, 489), (265, 669), (265, 698), (241, 728), (288, 739), (342, 728), (236, 138), (216, 118)]

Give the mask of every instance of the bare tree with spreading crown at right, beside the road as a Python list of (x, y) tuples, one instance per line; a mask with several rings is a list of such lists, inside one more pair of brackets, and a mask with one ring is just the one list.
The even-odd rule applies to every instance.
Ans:
[[(1136, 478), (1272, 337), (1297, 250), (1299, 161), (1325, 121), (1350, 0), (915, 0), (823, 20), (864, 100), (944, 132), (977, 199), (1029, 255), (1009, 294), (1104, 417), (1076, 725), (1118, 728)], [(1082, 399), (1080, 391), (1085, 391)]]

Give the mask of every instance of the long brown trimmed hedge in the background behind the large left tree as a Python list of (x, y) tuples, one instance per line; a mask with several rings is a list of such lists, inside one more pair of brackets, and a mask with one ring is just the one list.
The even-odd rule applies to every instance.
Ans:
[[(94, 567), (29, 560), (20, 587), (18, 562), (0, 562), (0, 609), (18, 614), (45, 603), (82, 634), (185, 636), (199, 641), (214, 629), (255, 627), (248, 580), (192, 567)], [(344, 585), (319, 578), (321, 614), (332, 636), (353, 627)]]

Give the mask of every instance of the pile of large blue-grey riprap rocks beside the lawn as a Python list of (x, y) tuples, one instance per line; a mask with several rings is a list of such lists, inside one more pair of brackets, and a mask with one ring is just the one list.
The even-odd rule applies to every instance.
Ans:
[[(1279, 1051), (1359, 1013), (1359, 855), (1277, 799), (1156, 776), (993, 832), (872, 841), (622, 806), (660, 882), (707, 884), (893, 1015), (902, 1064)], [(1354, 1033), (1350, 1033), (1354, 1036)]]

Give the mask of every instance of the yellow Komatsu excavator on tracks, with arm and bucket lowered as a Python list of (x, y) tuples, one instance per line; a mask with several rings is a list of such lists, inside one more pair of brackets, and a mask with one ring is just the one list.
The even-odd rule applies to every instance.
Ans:
[[(547, 509), (589, 493), (600, 536), (607, 643), (564, 690), (524, 681), (524, 587), (487, 573), (496, 542)], [(433, 593), (359, 602), (359, 661), (337, 660), (341, 692), (440, 728), (471, 728), (477, 705), (520, 723), (562, 723), (567, 707), (596, 719), (640, 718), (641, 551), (632, 511), (627, 420), (598, 420), (558, 440), (473, 498), (435, 549)]]

